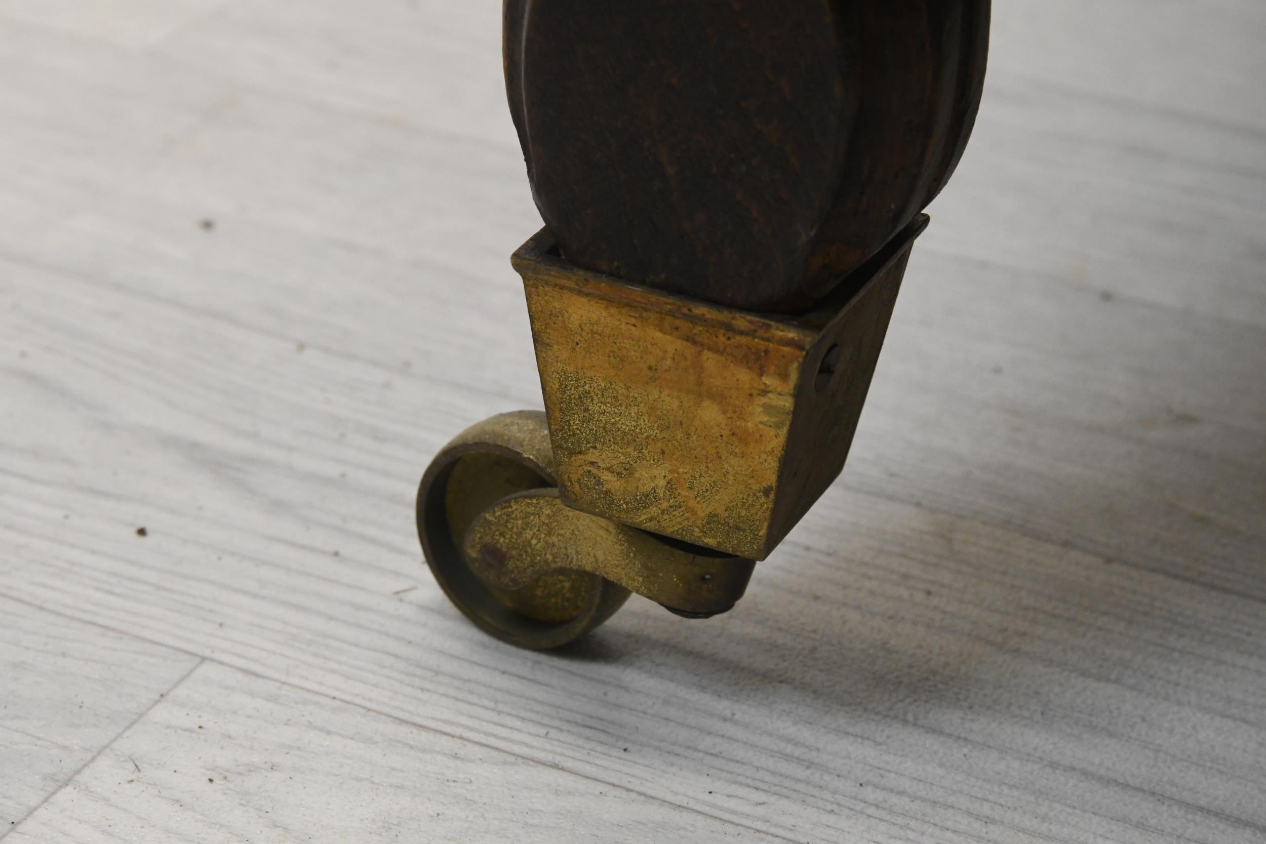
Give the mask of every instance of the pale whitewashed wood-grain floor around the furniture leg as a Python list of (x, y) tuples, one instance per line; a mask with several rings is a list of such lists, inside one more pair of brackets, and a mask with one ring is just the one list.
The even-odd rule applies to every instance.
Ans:
[(541, 401), (499, 4), (0, 0), (0, 838), (1266, 840), (1266, 4), (995, 5), (841, 481), (549, 655), (413, 531)]

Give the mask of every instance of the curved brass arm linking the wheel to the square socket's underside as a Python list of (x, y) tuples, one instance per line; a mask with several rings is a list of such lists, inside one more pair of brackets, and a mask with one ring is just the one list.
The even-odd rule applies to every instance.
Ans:
[(510, 592), (557, 577), (558, 569), (591, 572), (694, 616), (733, 607), (756, 566), (572, 510), (552, 488), (520, 492), (485, 510), (466, 531), (465, 552), (482, 581)]

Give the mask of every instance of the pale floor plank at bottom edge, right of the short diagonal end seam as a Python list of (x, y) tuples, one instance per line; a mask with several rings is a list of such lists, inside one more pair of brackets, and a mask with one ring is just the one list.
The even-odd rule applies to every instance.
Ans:
[(208, 664), (10, 840), (777, 839)]

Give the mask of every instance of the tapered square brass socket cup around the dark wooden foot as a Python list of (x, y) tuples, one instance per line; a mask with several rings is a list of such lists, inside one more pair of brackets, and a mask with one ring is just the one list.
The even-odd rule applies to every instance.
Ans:
[(765, 559), (839, 475), (920, 216), (813, 313), (753, 314), (513, 256), (572, 507)]

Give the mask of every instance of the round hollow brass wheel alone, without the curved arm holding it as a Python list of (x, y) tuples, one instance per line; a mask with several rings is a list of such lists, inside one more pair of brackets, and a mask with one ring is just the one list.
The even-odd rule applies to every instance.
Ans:
[[(481, 514), (529, 490), (555, 487), (546, 415), (520, 410), (458, 434), (427, 467), (418, 490), (418, 537), (448, 599), (485, 633), (520, 648), (557, 648), (600, 625), (629, 591), (575, 569), (499, 583), (498, 552), (472, 561), (465, 540)], [(473, 563), (473, 564), (472, 564)]]

